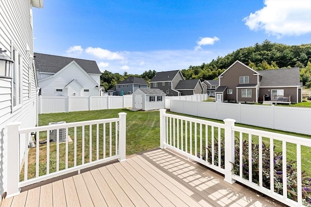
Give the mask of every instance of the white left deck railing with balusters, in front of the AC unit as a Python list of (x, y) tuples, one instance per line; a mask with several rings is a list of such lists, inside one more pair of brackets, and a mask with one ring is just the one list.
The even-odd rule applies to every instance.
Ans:
[[(20, 123), (8, 125), (8, 189), (7, 197), (19, 194), (19, 188), (56, 176), (102, 164), (125, 160), (126, 113), (119, 118), (19, 128)], [(66, 132), (65, 132), (66, 129)], [(56, 142), (50, 142), (50, 130), (56, 132)], [(66, 141), (60, 142), (60, 130)], [(19, 137), (31, 137), (35, 132), (35, 148), (28, 152), (29, 139), (20, 143)], [(72, 143), (69, 143), (69, 138)], [(42, 142), (45, 140), (45, 142)], [(41, 141), (41, 143), (40, 143)], [(25, 146), (23, 170), (20, 169), (19, 145)], [(34, 150), (35, 149), (35, 150)], [(55, 154), (56, 153), (56, 154)], [(32, 159), (33, 161), (29, 161)], [(34, 166), (35, 163), (35, 166)], [(32, 165), (33, 164), (33, 165)], [(20, 180), (20, 174), (23, 180)]]

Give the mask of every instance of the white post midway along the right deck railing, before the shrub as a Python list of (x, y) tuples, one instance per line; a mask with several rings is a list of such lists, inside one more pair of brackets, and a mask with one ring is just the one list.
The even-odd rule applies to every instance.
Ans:
[(234, 126), (236, 120), (225, 119), (225, 181), (233, 184), (235, 180), (232, 179), (232, 169), (234, 163)]

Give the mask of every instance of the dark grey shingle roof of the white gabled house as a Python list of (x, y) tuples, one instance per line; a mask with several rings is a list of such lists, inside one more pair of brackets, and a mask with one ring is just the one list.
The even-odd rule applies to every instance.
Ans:
[(57, 73), (66, 65), (75, 61), (82, 67), (86, 73), (102, 74), (95, 61), (83, 60), (77, 58), (62, 57), (56, 55), (47, 55), (41, 53), (34, 53), (35, 67), (39, 72)]

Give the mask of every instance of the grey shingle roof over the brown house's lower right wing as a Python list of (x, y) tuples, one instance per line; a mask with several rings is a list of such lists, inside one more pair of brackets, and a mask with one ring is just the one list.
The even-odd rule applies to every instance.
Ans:
[(300, 86), (299, 67), (258, 70), (262, 75), (260, 87), (263, 86)]

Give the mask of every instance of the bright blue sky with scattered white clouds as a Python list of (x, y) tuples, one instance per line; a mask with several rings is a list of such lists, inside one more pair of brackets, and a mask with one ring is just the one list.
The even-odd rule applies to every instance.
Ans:
[(44, 0), (35, 52), (142, 74), (209, 63), (265, 39), (311, 43), (311, 0)]

